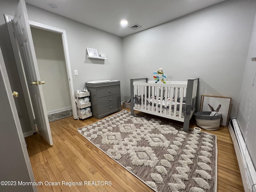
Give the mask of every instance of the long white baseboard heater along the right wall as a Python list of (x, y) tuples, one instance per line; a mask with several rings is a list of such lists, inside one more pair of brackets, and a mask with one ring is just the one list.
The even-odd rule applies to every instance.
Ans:
[(256, 192), (256, 170), (252, 164), (252, 159), (248, 153), (236, 118), (232, 118), (230, 120), (228, 130), (234, 143), (236, 157), (244, 185), (244, 191)]

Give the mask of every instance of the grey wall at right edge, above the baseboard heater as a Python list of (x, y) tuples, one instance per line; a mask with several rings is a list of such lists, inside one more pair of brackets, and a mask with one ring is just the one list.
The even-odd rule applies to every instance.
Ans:
[(256, 57), (256, 18), (252, 31), (250, 48), (246, 60), (244, 78), (240, 93), (237, 112), (237, 121), (248, 148), (254, 167), (256, 168), (256, 62), (251, 58)]

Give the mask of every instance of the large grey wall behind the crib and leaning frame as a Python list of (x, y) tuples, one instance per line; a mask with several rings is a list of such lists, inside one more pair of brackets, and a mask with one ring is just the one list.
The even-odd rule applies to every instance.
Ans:
[(255, 10), (255, 1), (228, 0), (124, 37), (125, 96), (130, 78), (153, 80), (163, 68), (167, 80), (199, 77), (199, 96), (232, 97), (235, 116)]

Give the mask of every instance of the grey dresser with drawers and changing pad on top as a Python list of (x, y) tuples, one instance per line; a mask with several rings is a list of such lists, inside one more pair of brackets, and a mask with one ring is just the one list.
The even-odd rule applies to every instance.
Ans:
[(86, 83), (85, 85), (90, 92), (92, 116), (94, 118), (100, 119), (122, 109), (120, 81)]

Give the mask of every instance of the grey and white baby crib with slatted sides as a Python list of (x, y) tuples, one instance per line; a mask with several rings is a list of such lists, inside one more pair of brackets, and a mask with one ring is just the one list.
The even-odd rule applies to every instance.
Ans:
[(189, 121), (195, 112), (199, 78), (188, 81), (155, 83), (148, 78), (131, 79), (131, 112), (134, 110), (184, 122), (188, 132)]

